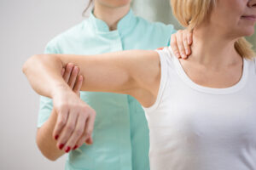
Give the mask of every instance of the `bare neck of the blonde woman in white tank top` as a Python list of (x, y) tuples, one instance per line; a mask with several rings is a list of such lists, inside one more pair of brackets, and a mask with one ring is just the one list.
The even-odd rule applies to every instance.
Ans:
[(235, 65), (241, 62), (241, 56), (234, 47), (235, 42), (221, 35), (219, 29), (210, 26), (196, 28), (193, 32), (191, 60), (216, 69)]

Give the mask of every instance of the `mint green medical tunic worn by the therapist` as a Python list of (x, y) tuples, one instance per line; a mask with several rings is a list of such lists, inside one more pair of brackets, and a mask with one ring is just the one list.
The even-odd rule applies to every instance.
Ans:
[[(45, 54), (103, 54), (128, 49), (156, 49), (167, 46), (173, 26), (150, 23), (132, 11), (109, 31), (102, 20), (90, 18), (53, 38)], [(72, 150), (68, 170), (148, 170), (148, 124), (142, 106), (125, 94), (81, 92), (81, 99), (96, 110), (92, 138)], [(41, 96), (38, 127), (49, 118), (52, 100)]]

